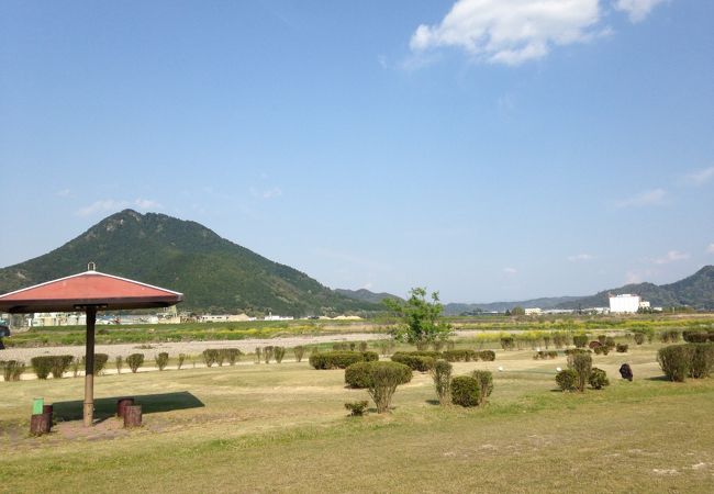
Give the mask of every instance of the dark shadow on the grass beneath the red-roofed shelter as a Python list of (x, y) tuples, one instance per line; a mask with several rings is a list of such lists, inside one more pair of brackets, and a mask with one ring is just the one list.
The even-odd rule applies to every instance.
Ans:
[[(94, 400), (94, 420), (105, 420), (116, 414), (116, 401), (126, 396), (112, 396)], [(142, 414), (171, 412), (175, 409), (201, 408), (203, 402), (188, 391), (176, 393), (141, 394), (130, 396), (136, 405), (142, 405)], [(54, 416), (57, 420), (79, 420), (82, 418), (82, 401), (55, 402)]]

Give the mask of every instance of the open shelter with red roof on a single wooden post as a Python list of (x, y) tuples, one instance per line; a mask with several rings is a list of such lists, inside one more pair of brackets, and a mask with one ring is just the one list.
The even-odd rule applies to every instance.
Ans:
[(79, 274), (0, 295), (0, 311), (10, 314), (34, 312), (87, 313), (85, 357), (85, 426), (94, 413), (94, 325), (97, 311), (168, 307), (183, 300), (183, 294), (90, 269)]

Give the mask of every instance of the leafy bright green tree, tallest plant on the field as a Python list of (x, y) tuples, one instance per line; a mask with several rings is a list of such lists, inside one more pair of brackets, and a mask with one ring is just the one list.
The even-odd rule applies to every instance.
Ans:
[(398, 341), (412, 345), (429, 344), (449, 337), (451, 326), (442, 321), (444, 306), (439, 303), (438, 292), (426, 299), (426, 289), (414, 288), (405, 302), (384, 299), (382, 303), (401, 318), (401, 324), (392, 332)]

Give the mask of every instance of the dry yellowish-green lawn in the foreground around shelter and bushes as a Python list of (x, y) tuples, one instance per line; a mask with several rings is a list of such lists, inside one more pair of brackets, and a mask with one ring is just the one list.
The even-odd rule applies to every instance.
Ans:
[[(101, 377), (91, 429), (81, 379), (2, 382), (0, 492), (712, 492), (714, 379), (661, 380), (656, 348), (594, 356), (613, 384), (584, 394), (554, 391), (565, 357), (498, 351), (455, 363), (494, 372), (484, 407), (442, 407), (416, 373), (390, 414), (361, 418), (343, 405), (366, 391), (304, 361)], [(141, 429), (110, 417), (125, 395)], [(49, 436), (27, 437), (34, 396), (63, 419)]]

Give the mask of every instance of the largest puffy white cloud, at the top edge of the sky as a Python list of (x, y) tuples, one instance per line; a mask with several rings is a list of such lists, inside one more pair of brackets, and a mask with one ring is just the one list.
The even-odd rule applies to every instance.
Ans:
[(599, 0), (457, 0), (436, 25), (420, 25), (413, 53), (454, 46), (490, 63), (518, 65), (553, 45), (587, 42), (599, 33)]

